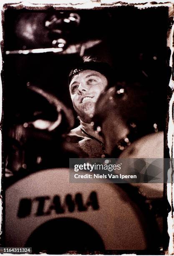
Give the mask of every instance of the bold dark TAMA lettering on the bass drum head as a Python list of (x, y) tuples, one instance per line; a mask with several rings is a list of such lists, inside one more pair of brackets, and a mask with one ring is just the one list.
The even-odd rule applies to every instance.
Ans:
[(67, 194), (65, 197), (55, 195), (53, 198), (49, 196), (40, 196), (34, 198), (22, 198), (18, 207), (18, 218), (25, 218), (30, 215), (43, 216), (51, 214), (62, 214), (66, 212), (83, 212), (89, 208), (98, 210), (97, 193), (92, 191), (86, 202), (83, 200), (81, 193), (74, 196)]

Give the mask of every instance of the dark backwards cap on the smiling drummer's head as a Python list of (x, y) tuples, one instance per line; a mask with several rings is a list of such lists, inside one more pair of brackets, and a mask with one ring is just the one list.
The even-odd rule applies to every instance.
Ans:
[(111, 66), (106, 62), (95, 61), (95, 60), (83, 61), (81, 64), (74, 67), (69, 74), (69, 84), (75, 74), (78, 74), (79, 72), (83, 70), (88, 70), (88, 69), (94, 70), (103, 74), (108, 80), (108, 87), (113, 86), (114, 74)]

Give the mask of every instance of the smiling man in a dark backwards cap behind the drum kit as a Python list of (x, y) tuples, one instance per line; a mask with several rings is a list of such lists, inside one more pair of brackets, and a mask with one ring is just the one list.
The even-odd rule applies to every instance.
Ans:
[(80, 125), (68, 134), (70, 142), (78, 143), (84, 153), (80, 157), (104, 157), (103, 139), (93, 130), (91, 118), (99, 95), (112, 83), (111, 67), (104, 62), (84, 58), (83, 63), (71, 70), (69, 90)]

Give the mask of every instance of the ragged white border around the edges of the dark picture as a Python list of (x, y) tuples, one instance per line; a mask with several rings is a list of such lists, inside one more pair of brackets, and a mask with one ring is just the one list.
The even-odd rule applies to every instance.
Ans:
[[(50, 3), (51, 2), (51, 3)], [(113, 1), (113, 0), (31, 0), (31, 1), (18, 1), (18, 0), (1, 0), (0, 1), (0, 18), (1, 18), (1, 28), (0, 28), (0, 42), (1, 47), (3, 50), (3, 16), (4, 11), (8, 8), (8, 6), (13, 7), (15, 9), (30, 9), (30, 10), (45, 10), (49, 7), (53, 7), (55, 9), (101, 9), (101, 8), (112, 8), (117, 6), (126, 6), (132, 5), (139, 9), (151, 8), (151, 7), (159, 7), (159, 6), (166, 6), (169, 9), (169, 17), (174, 16), (174, 0), (173, 1), (166, 1), (160, 0), (157, 2), (153, 1), (144, 1), (144, 0), (127, 0), (127, 1)], [(174, 20), (174, 18), (173, 18)], [(169, 31), (167, 36), (167, 45), (171, 50), (171, 56), (169, 65), (174, 70), (174, 63), (173, 63), (173, 55), (174, 55), (174, 24)], [(0, 51), (0, 70), (2, 73), (3, 70), (3, 57), (2, 51)], [(173, 72), (174, 73), (174, 72)], [(169, 82), (169, 86), (171, 89), (174, 89), (174, 78), (172, 78)], [(1, 124), (0, 124), (0, 141), (2, 141), (2, 116), (3, 116), (3, 109), (2, 109), (2, 80), (0, 80), (0, 114), (1, 114)], [(174, 92), (169, 102), (169, 125), (167, 131), (167, 145), (169, 147), (169, 154), (170, 158), (173, 158), (173, 145), (174, 145)], [(2, 146), (0, 148), (0, 160), (2, 156)], [(0, 161), (0, 169), (2, 170), (2, 160)], [(0, 172), (0, 179), (2, 180), (2, 173)], [(0, 223), (1, 223), (1, 230), (0, 234), (2, 234), (2, 187), (0, 184), (1, 189), (1, 207), (0, 207)], [(173, 200), (174, 200), (174, 186), (173, 182), (167, 184), (167, 198), (171, 209), (173, 209)], [(167, 217), (167, 225), (168, 225), (168, 233), (169, 233), (169, 247), (166, 251), (166, 255), (174, 254), (174, 216), (172, 210), (169, 212)], [(8, 254), (9, 255), (9, 254)], [(123, 254), (127, 255), (127, 254)], [(130, 254), (135, 255), (135, 254)]]

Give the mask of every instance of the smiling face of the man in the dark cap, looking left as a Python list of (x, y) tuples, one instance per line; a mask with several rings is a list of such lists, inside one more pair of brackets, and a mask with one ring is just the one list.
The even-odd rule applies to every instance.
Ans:
[(107, 84), (106, 77), (94, 70), (83, 70), (73, 76), (70, 94), (74, 109), (82, 121), (90, 122), (96, 101)]

